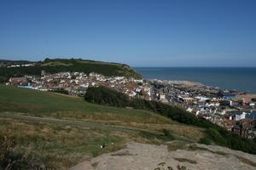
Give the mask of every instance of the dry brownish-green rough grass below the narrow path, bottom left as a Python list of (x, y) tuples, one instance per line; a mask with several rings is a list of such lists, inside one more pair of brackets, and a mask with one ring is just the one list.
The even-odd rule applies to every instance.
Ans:
[[(33, 154), (46, 167), (55, 169), (66, 169), (92, 156), (119, 150), (125, 139), (128, 139), (128, 134), (111, 133), (108, 130), (20, 122), (5, 118), (0, 118), (0, 135), (15, 137), (15, 151)], [(100, 145), (103, 143), (106, 147), (101, 150)]]

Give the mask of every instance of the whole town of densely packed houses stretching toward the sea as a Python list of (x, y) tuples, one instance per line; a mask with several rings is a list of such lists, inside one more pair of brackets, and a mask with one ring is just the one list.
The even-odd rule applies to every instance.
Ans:
[(89, 87), (105, 86), (131, 98), (177, 105), (247, 139), (256, 139), (254, 94), (209, 87), (198, 82), (104, 77), (95, 72), (87, 75), (84, 72), (49, 74), (41, 71), (40, 77), (10, 77), (6, 84), (75, 96), (84, 96)]

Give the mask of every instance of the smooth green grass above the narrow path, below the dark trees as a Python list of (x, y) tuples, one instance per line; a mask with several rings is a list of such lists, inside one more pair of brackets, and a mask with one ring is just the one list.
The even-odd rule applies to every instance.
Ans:
[(150, 111), (94, 105), (84, 99), (38, 90), (0, 85), (0, 111), (113, 122), (171, 123)]

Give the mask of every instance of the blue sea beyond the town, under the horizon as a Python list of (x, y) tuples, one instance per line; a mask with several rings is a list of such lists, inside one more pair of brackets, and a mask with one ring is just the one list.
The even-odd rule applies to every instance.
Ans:
[(256, 94), (256, 67), (136, 67), (147, 79), (183, 80)]

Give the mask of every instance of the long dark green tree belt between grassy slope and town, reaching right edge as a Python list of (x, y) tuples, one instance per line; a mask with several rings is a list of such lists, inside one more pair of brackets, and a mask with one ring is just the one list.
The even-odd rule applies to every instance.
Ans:
[[(235, 133), (228, 132), (223, 127), (219, 127), (206, 119), (196, 117), (189, 112), (172, 105), (144, 99), (128, 99), (125, 94), (120, 94), (115, 90), (103, 87), (88, 88), (84, 99), (100, 105), (110, 105), (115, 107), (130, 106), (134, 109), (153, 111), (154, 113), (166, 116), (177, 122), (204, 127), (207, 128), (206, 136), (200, 140), (200, 143), (215, 143), (229, 147), (233, 150), (242, 150), (247, 153), (256, 154), (256, 144), (253, 140), (245, 139)], [(168, 135), (166, 130), (163, 131), (163, 133)], [(147, 136), (150, 137), (151, 135), (147, 134)]]

